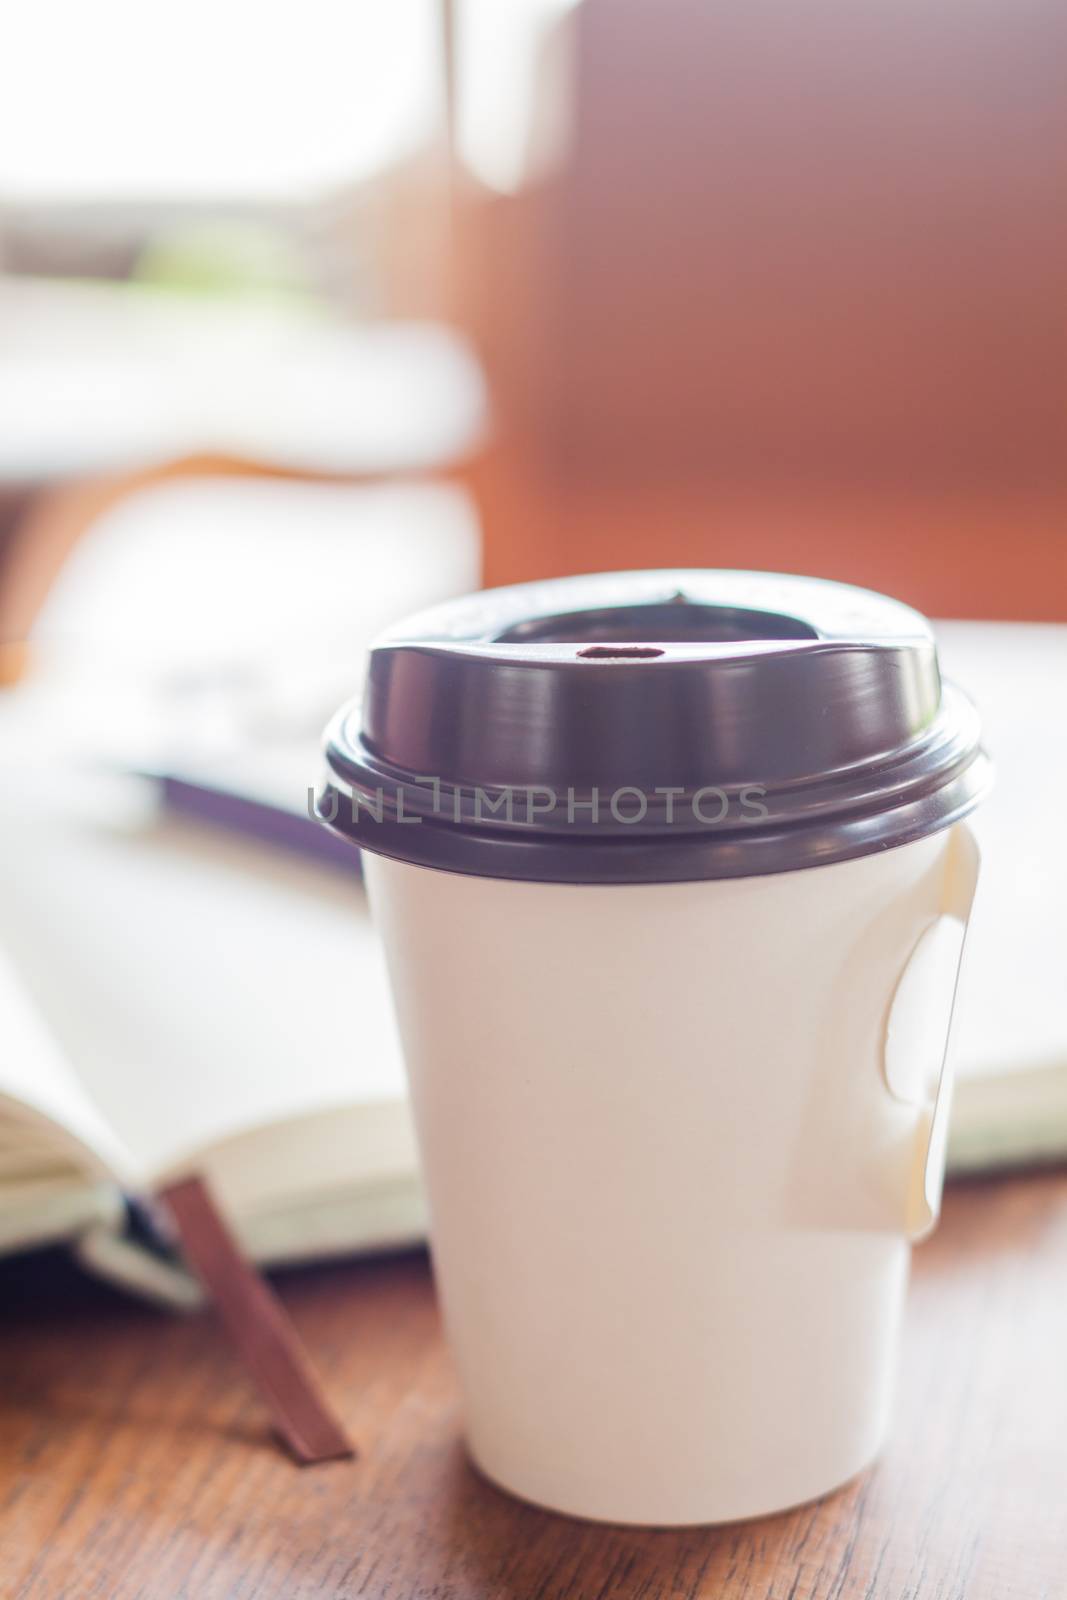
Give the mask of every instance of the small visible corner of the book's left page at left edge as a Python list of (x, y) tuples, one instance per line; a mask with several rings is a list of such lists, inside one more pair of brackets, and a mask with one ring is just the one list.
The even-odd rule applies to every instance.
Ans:
[(122, 1184), (136, 1176), (0, 949), (0, 1184), (54, 1182), (70, 1162)]

